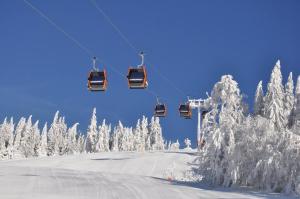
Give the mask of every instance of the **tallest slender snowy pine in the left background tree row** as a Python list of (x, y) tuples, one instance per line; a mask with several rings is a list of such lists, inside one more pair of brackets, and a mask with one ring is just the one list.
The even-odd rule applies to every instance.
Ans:
[(86, 152), (88, 153), (96, 152), (97, 140), (98, 140), (97, 116), (96, 116), (96, 108), (94, 108), (93, 115), (91, 118), (91, 123), (88, 126), (88, 130), (87, 130)]

